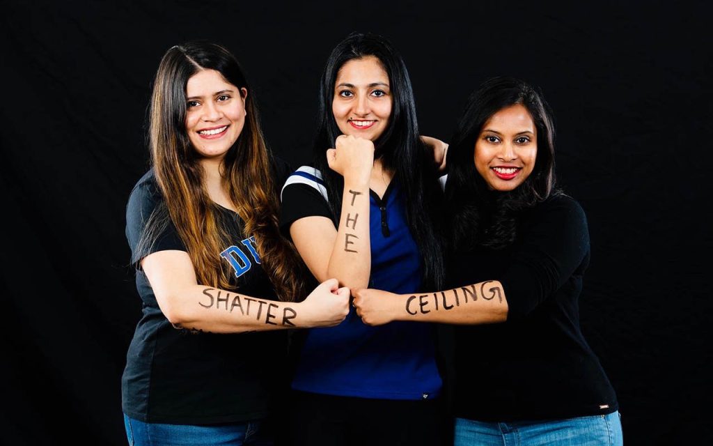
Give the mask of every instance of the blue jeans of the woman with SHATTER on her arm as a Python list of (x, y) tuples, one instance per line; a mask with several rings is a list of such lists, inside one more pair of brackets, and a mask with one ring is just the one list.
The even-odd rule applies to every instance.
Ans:
[(261, 435), (260, 422), (220, 425), (168, 425), (135, 420), (124, 414), (129, 446), (268, 446), (272, 439)]

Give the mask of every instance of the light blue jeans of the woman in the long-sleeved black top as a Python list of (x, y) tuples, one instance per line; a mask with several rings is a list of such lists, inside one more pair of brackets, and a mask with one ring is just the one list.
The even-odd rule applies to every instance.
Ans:
[(456, 418), (455, 446), (622, 446), (619, 412), (543, 422), (481, 422)]

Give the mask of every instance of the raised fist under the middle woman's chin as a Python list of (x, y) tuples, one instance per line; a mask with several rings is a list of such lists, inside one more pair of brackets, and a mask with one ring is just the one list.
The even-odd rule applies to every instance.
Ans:
[(374, 167), (374, 143), (352, 135), (340, 135), (336, 148), (327, 150), (327, 164), (344, 177), (344, 183), (369, 183)]

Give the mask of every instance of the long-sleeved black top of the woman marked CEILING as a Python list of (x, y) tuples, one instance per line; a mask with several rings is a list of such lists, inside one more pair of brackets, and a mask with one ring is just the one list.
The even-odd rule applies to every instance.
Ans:
[(508, 320), (456, 328), (456, 416), (508, 422), (601, 415), (617, 399), (579, 325), (587, 220), (567, 196), (520, 218), (518, 240), (448, 260), (452, 288), (500, 280)]

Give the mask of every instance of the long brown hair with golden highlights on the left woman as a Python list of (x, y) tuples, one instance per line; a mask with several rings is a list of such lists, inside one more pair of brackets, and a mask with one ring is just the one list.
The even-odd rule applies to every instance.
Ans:
[(202, 70), (218, 71), (228, 83), (251, 92), (245, 98), (245, 126), (222, 161), (223, 186), (244, 222), (242, 233), (255, 236), (262, 268), (277, 296), (294, 300), (304, 293), (297, 274), (302, 270), (302, 261), (278, 229), (278, 185), (272, 179), (274, 163), (260, 129), (255, 95), (235, 57), (220, 45), (194, 41), (173, 46), (158, 66), (148, 133), (153, 170), (165, 208), (159, 208), (150, 218), (142, 236), (143, 245), (153, 243), (158, 228), (170, 218), (193, 260), (198, 282), (235, 288), (230, 280), (234, 273), (219, 255), (235, 243), (224, 229), (230, 222), (222, 221), (220, 208), (208, 196), (200, 156), (185, 128), (186, 85), (191, 76)]

